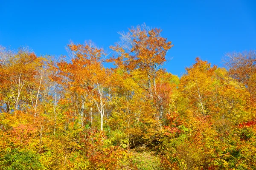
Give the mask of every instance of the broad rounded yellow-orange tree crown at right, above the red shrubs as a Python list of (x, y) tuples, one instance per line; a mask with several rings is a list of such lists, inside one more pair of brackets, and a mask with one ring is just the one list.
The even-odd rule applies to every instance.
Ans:
[[(211, 67), (207, 61), (196, 58), (180, 79), (179, 91), (188, 100), (188, 110), (214, 119), (233, 123), (248, 119), (248, 93), (241, 83), (228, 77), (227, 71)], [(197, 114), (196, 116), (200, 116)]]

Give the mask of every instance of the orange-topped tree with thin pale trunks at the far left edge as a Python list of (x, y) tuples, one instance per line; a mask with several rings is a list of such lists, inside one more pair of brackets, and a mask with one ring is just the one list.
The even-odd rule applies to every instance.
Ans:
[(2, 81), (6, 85), (1, 94), (6, 112), (22, 111), (30, 105), (36, 116), (46, 59), (37, 57), (28, 47), (1, 55)]

